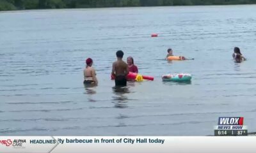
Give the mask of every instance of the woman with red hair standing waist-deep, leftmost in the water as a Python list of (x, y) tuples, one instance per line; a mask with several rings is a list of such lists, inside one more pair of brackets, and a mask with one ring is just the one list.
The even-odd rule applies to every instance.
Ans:
[(98, 84), (95, 69), (92, 68), (91, 58), (86, 59), (86, 68), (84, 68), (84, 84)]

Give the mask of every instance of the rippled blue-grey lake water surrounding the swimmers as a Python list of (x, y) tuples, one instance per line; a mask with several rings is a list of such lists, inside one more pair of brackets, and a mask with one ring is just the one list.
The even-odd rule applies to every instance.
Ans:
[[(10, 11), (0, 33), (0, 135), (213, 135), (218, 117), (256, 131), (256, 5)], [(163, 61), (168, 48), (195, 60)], [(116, 50), (155, 80), (113, 88)]]

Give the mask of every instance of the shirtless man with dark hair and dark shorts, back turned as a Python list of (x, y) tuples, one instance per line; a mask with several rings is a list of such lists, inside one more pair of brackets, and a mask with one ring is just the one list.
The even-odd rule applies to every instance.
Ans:
[(125, 86), (127, 84), (126, 76), (129, 73), (128, 65), (122, 60), (124, 52), (118, 50), (116, 52), (117, 61), (113, 62), (111, 75), (115, 77), (116, 86)]

